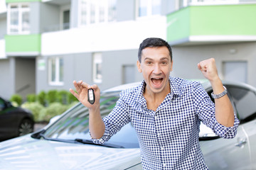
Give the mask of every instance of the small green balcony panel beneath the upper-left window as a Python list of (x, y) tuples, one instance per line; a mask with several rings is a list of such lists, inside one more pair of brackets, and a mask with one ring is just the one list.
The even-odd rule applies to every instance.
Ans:
[(41, 34), (6, 35), (6, 52), (41, 52)]

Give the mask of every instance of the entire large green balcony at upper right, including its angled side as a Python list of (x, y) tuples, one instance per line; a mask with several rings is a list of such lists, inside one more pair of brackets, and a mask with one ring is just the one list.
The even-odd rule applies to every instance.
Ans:
[(167, 15), (167, 40), (191, 35), (256, 35), (256, 4), (188, 6)]

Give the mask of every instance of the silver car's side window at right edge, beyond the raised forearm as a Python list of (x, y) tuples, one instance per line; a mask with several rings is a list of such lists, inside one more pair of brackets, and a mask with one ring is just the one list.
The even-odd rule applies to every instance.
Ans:
[(256, 118), (256, 95), (249, 89), (228, 86), (228, 91), (233, 97), (235, 108), (238, 112), (240, 123)]

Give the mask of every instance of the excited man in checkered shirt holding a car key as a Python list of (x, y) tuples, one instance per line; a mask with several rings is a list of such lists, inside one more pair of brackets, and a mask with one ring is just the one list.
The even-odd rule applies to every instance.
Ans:
[[(144, 81), (134, 89), (122, 91), (112, 113), (100, 116), (100, 89), (74, 81), (76, 94), (89, 108), (92, 140), (103, 143), (132, 122), (137, 131), (143, 169), (208, 169), (203, 161), (198, 133), (202, 121), (220, 137), (235, 137), (235, 117), (215, 60), (198, 63), (210, 81), (215, 105), (198, 82), (169, 77), (173, 67), (171, 47), (160, 38), (147, 38), (139, 47), (137, 67)], [(182, 67), (182, 66), (181, 66)], [(87, 102), (87, 89), (94, 89), (96, 101)]]

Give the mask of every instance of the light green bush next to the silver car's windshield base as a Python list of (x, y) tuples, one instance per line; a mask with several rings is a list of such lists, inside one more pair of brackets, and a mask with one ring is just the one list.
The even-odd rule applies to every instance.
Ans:
[(65, 106), (61, 103), (58, 103), (58, 102), (50, 103), (50, 105), (46, 109), (41, 110), (40, 117), (41, 119), (48, 122), (55, 115), (60, 115), (65, 111), (67, 111), (67, 109), (68, 109), (68, 106)]

